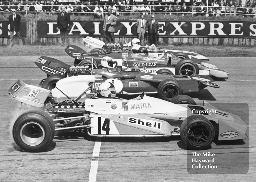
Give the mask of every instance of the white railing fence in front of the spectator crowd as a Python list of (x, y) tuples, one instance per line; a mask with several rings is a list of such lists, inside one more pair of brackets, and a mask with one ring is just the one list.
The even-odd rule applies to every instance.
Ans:
[[(52, 9), (52, 7), (58, 7), (56, 9)], [(0, 7), (8, 7), (8, 6), (0, 6)], [(25, 14), (28, 14), (28, 13), (48, 13), (48, 14), (51, 14), (51, 13), (58, 13), (60, 12), (60, 5), (12, 5), (12, 6), (9, 6), (8, 9), (5, 9), (3, 11), (0, 10), (0, 13), (10, 13), (10, 11), (12, 11), (13, 8), (10, 8), (10, 7), (14, 7), (14, 9), (16, 9), (17, 12), (19, 13), (25, 13)], [(16, 7), (16, 8), (15, 8)], [(20, 10), (20, 7), (23, 7), (23, 10), (22, 11), (19, 11)], [(30, 7), (35, 7), (35, 11), (29, 11), (29, 8)], [(51, 7), (51, 9), (48, 9), (48, 10), (43, 10), (42, 7)], [(71, 6), (65, 6), (66, 7), (66, 12), (69, 12), (69, 13), (73, 13), (73, 14), (77, 14), (77, 15), (83, 15), (83, 14), (92, 14), (94, 13), (93, 11), (87, 11), (86, 8), (87, 7), (96, 7), (96, 6), (81, 6), (81, 5), (77, 5), (77, 6), (74, 6), (74, 5), (71, 5)], [(70, 11), (72, 10), (72, 8), (70, 7), (73, 7), (73, 11)], [(76, 10), (74, 10), (74, 7), (75, 8), (78, 8)], [(107, 6), (105, 6), (107, 7)], [(107, 13), (107, 9), (106, 8), (102, 8), (104, 13)], [(158, 13), (158, 14), (168, 14), (168, 15), (173, 15), (173, 14), (176, 14), (176, 15), (186, 15), (186, 14), (192, 14), (192, 15), (205, 15), (205, 16), (222, 16), (222, 15), (233, 15), (233, 16), (236, 16), (236, 15), (242, 15), (242, 16), (248, 16), (248, 17), (256, 17), (256, 7), (253, 7), (253, 8), (244, 8), (244, 7), (229, 7), (229, 6), (220, 6), (220, 7), (214, 7), (214, 6), (203, 6), (205, 8), (205, 10), (203, 12), (201, 12), (202, 10), (200, 10), (200, 8), (202, 6), (186, 6), (186, 9), (185, 11), (184, 10), (179, 10), (179, 11), (174, 11), (175, 7), (177, 6), (173, 6), (173, 5), (169, 5), (169, 6), (146, 6), (146, 8), (144, 6), (130, 6), (131, 7), (131, 10), (121, 10), (122, 7), (127, 7), (127, 6), (115, 6), (117, 7), (117, 10), (116, 10), (116, 15), (121, 15), (121, 16), (124, 16), (124, 15), (129, 15), (129, 14), (134, 14), (134, 13), (141, 13), (141, 14), (149, 14), (151, 15), (152, 13)], [(157, 9), (159, 9), (159, 7), (163, 7), (163, 11), (152, 11), (152, 7), (157, 7)], [(180, 7), (183, 7), (183, 6), (180, 6)], [(184, 7), (183, 7), (184, 8)], [(212, 11), (209, 11), (209, 9), (212, 8)], [(38, 11), (37, 9), (39, 9), (40, 11)], [(58, 9), (58, 10), (57, 10)], [(127, 8), (126, 8), (127, 9)], [(218, 9), (219, 11), (215, 11), (216, 9)], [(112, 10), (113, 11), (113, 10)]]

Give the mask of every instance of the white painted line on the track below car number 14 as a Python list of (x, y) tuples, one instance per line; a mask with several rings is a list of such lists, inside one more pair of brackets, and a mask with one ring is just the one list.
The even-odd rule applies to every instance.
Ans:
[(94, 144), (93, 152), (92, 152), (91, 169), (90, 169), (88, 182), (96, 181), (99, 155), (100, 155), (100, 146), (101, 146), (101, 137), (97, 137), (96, 142)]

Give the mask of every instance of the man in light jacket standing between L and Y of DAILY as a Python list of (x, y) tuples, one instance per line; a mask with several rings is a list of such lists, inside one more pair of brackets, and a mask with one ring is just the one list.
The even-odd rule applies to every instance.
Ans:
[(116, 25), (116, 16), (112, 14), (112, 10), (108, 9), (108, 14), (104, 18), (103, 30), (106, 34), (106, 39), (108, 43), (115, 43), (115, 28), (113, 25)]

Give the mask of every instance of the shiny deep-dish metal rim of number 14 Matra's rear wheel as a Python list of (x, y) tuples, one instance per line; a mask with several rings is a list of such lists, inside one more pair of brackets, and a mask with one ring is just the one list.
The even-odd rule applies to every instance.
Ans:
[(21, 127), (20, 138), (29, 146), (39, 145), (44, 141), (44, 128), (36, 122), (28, 122)]

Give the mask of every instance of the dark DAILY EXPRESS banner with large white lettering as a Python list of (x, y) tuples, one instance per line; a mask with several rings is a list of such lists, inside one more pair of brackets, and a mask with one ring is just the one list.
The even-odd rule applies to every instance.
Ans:
[[(105, 37), (103, 21), (72, 21), (70, 37)], [(60, 37), (56, 21), (37, 21), (38, 37)], [(256, 24), (243, 21), (159, 21), (159, 37), (256, 37)], [(136, 37), (136, 21), (117, 21), (116, 37)]]

